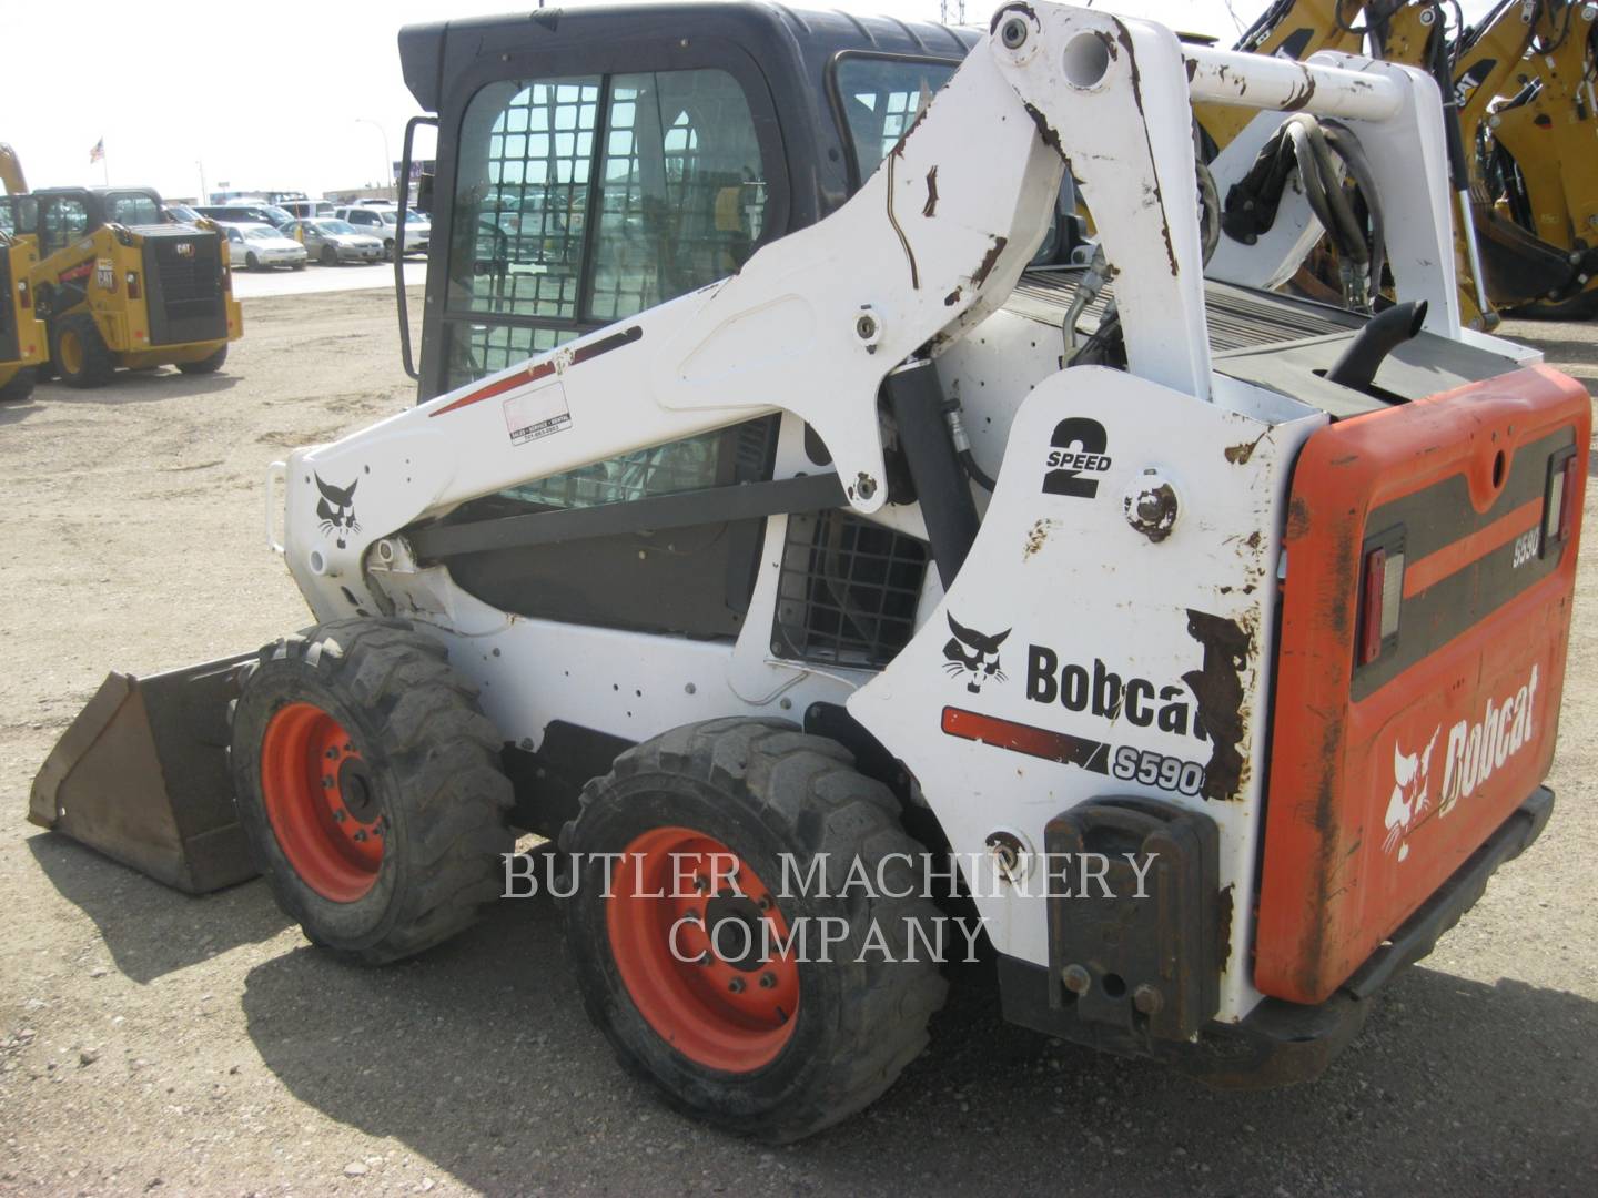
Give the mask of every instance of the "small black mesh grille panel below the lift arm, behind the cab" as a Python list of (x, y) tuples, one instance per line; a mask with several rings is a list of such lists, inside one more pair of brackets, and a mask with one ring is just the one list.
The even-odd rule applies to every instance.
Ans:
[(927, 546), (847, 511), (789, 516), (777, 583), (778, 657), (879, 668), (916, 631)]

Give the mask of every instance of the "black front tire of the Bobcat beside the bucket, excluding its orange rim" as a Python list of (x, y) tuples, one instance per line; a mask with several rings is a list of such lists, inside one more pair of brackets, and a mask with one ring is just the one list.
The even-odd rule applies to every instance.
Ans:
[[(267, 819), (260, 744), (272, 716), (315, 703), (355, 738), (387, 819), (372, 888), (334, 902), (296, 874)], [(240, 824), (278, 906), (312, 942), (364, 965), (439, 944), (503, 888), (511, 784), (499, 732), (446, 660), (404, 620), (336, 620), (260, 650), (232, 711)]]

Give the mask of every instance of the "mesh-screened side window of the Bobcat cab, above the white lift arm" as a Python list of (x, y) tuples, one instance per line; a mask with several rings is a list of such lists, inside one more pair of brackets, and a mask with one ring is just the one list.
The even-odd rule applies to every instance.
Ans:
[(420, 398), (724, 278), (785, 232), (759, 69), (713, 38), (663, 58), (524, 56), (451, 96)]

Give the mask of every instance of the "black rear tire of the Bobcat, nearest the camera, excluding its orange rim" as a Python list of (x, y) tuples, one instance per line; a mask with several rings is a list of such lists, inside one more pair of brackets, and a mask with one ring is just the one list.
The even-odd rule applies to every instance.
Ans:
[[(604, 871), (588, 855), (620, 853), (652, 827), (684, 826), (738, 853), (778, 909), (796, 918), (842, 917), (850, 934), (831, 962), (799, 965), (802, 1000), (796, 1027), (775, 1059), (748, 1073), (690, 1061), (639, 1014), (615, 966), (606, 930)], [(666, 1101), (697, 1118), (773, 1142), (817, 1133), (877, 1099), (927, 1045), (927, 1021), (948, 986), (930, 960), (904, 960), (906, 920), (936, 920), (938, 909), (911, 898), (852, 893), (781, 895), (780, 856), (793, 853), (805, 875), (815, 855), (834, 869), (857, 856), (876, 869), (890, 853), (920, 859), (920, 845), (898, 821), (898, 802), (853, 768), (836, 741), (810, 736), (786, 720), (719, 719), (689, 724), (622, 754), (612, 772), (583, 789), (582, 811), (561, 832), (577, 864), (577, 890), (566, 899), (566, 944), (590, 1019), (609, 1038), (622, 1065), (657, 1085)], [(908, 867), (906, 867), (908, 869)], [(892, 890), (916, 890), (906, 872)], [(892, 963), (850, 952), (876, 922), (893, 946)], [(837, 925), (833, 925), (837, 926)], [(957, 938), (957, 933), (956, 933)], [(925, 954), (922, 954), (925, 955)]]

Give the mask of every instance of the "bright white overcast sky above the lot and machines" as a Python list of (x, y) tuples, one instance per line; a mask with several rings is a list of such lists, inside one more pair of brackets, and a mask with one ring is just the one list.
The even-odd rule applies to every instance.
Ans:
[[(791, 2), (917, 19), (940, 13), (938, 0)], [(0, 141), (16, 149), (29, 184), (109, 177), (149, 184), (171, 198), (198, 195), (201, 171), (211, 190), (320, 195), (387, 182), (404, 125), (420, 112), (400, 75), (400, 27), (535, 6), (535, 0), (376, 0), (334, 8), (225, 3), (166, 6), (157, 19), (129, 19), (125, 0), (75, 0), (70, 26), (91, 32), (67, 54), (61, 10), (3, 3), (10, 10), (0, 21), (5, 40), (27, 50), (10, 50), (0, 72)], [(1117, 13), (1213, 34), (1222, 45), (1266, 3), (1096, 0)], [(1467, 16), (1485, 5), (1467, 0)], [(986, 24), (997, 6), (997, 0), (967, 0), (967, 21)], [(952, 19), (957, 0), (948, 8)], [(417, 136), (419, 157), (428, 157), (425, 136)], [(89, 163), (101, 139), (104, 168)]]

